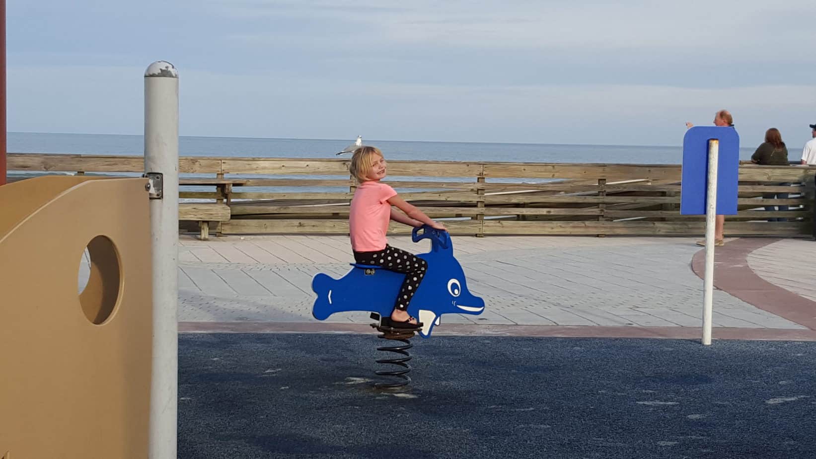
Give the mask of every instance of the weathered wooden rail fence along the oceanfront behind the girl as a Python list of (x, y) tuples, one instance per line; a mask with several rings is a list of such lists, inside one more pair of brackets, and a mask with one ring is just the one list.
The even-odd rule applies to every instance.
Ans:
[[(179, 167), (180, 219), (201, 221), (204, 234), (348, 233), (355, 189), (348, 159), (184, 157)], [(9, 154), (8, 170), (140, 173), (144, 159)], [(738, 214), (726, 216), (725, 234), (814, 234), (814, 172), (741, 165)], [(444, 223), (453, 234), (698, 235), (704, 229), (703, 216), (680, 215), (679, 165), (389, 161), (386, 180), (432, 218), (450, 219)], [(789, 197), (768, 198), (775, 193)], [(769, 205), (790, 209), (765, 211)]]

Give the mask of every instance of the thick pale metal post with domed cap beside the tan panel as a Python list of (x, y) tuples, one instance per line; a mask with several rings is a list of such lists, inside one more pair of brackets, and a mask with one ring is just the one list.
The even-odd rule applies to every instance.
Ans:
[(153, 241), (151, 459), (175, 459), (179, 394), (179, 74), (159, 60), (144, 72), (144, 172)]

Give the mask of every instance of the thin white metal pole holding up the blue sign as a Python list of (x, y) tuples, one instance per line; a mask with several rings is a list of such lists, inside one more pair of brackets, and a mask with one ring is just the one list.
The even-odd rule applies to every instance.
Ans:
[(714, 231), (716, 228), (716, 167), (719, 156), (720, 140), (708, 140), (708, 183), (706, 189), (706, 271), (703, 276), (703, 345), (712, 344)]

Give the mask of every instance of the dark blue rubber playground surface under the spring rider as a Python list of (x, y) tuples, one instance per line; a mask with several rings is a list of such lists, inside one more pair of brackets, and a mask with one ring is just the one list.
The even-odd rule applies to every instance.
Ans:
[(179, 457), (814, 458), (816, 342), (183, 334)]

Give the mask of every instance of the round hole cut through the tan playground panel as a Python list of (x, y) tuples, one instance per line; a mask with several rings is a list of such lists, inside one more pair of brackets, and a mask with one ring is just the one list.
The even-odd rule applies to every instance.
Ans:
[[(85, 317), (99, 325), (104, 323), (116, 308), (119, 297), (119, 255), (113, 241), (96, 236), (88, 243), (79, 266), (79, 302)], [(87, 261), (86, 261), (87, 260)], [(83, 265), (86, 265), (86, 283), (82, 287)]]

